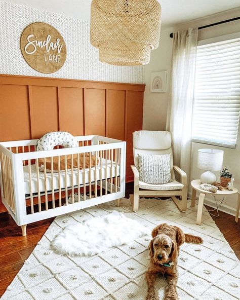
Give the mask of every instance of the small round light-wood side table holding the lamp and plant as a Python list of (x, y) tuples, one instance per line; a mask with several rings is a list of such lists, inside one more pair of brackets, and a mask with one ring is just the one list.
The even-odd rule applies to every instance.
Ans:
[[(227, 196), (231, 194), (237, 194), (238, 190), (233, 187), (232, 191), (229, 191), (226, 189), (226, 187), (223, 187), (223, 190), (218, 190), (217, 193), (211, 193), (204, 190), (201, 190), (201, 181), (199, 179), (195, 179), (191, 181), (192, 186), (192, 200), (191, 200), (191, 207), (195, 206), (195, 200), (196, 200), (196, 191), (200, 192), (199, 198), (198, 198), (198, 207), (197, 207), (197, 216), (196, 216), (196, 223), (197, 225), (201, 225), (202, 222), (202, 214), (203, 214), (203, 206), (204, 206), (204, 198), (206, 194), (213, 194), (213, 195), (219, 195), (219, 196)], [(235, 222), (238, 221), (238, 214), (239, 214), (239, 208), (240, 208), (240, 194), (238, 193), (238, 200), (237, 200), (237, 207), (236, 207), (236, 216), (235, 216)]]

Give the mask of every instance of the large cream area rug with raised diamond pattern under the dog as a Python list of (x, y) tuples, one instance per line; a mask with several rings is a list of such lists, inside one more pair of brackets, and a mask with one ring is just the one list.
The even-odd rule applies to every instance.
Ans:
[[(197, 226), (196, 209), (180, 213), (173, 202), (141, 199), (137, 213), (130, 200), (115, 202), (56, 217), (46, 234), (25, 261), (2, 300), (145, 300), (145, 271), (149, 263), (151, 230), (167, 222), (185, 233), (201, 236), (202, 245), (184, 244), (179, 255), (178, 294), (180, 300), (237, 300), (240, 298), (239, 261), (206, 209)], [(57, 254), (51, 248), (63, 228), (112, 211), (122, 212), (149, 230), (129, 245), (112, 247), (91, 257)], [(156, 287), (163, 299), (166, 280)]]

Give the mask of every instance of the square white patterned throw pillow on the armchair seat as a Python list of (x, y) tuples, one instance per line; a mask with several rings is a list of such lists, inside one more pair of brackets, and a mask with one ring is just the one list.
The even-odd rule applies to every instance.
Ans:
[(164, 184), (171, 181), (170, 154), (139, 154), (140, 180), (151, 184)]

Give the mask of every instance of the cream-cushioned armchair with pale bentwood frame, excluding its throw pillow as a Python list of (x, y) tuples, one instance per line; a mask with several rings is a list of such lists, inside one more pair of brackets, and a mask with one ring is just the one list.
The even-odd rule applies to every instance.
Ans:
[[(171, 154), (170, 167), (172, 181), (165, 184), (149, 184), (139, 180), (138, 154)], [(133, 133), (134, 195), (130, 195), (133, 211), (138, 211), (139, 197), (170, 196), (181, 212), (187, 209), (187, 175), (173, 165), (172, 136), (169, 131), (140, 130)], [(175, 180), (174, 171), (178, 172), (181, 182)], [(176, 196), (180, 196), (179, 200)]]

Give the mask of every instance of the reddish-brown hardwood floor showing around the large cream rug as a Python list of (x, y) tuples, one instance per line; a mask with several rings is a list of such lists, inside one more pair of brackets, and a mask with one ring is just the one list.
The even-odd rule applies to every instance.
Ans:
[[(126, 198), (133, 193), (133, 183), (126, 185)], [(207, 206), (206, 206), (207, 207)], [(211, 209), (207, 207), (207, 209)], [(219, 217), (213, 217), (232, 249), (240, 258), (240, 221), (219, 211)], [(28, 224), (27, 236), (23, 237), (21, 228), (7, 212), (0, 213), (0, 296), (21, 269), (24, 260), (31, 254), (36, 243), (42, 238), (54, 218)]]

